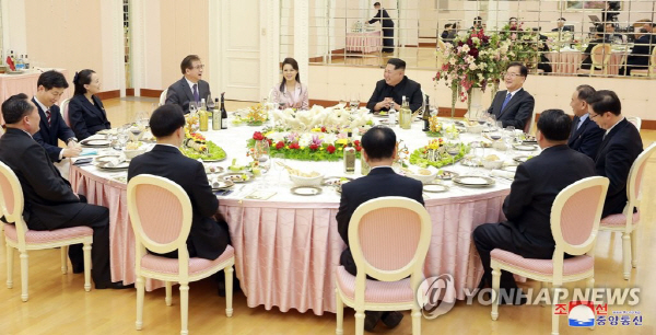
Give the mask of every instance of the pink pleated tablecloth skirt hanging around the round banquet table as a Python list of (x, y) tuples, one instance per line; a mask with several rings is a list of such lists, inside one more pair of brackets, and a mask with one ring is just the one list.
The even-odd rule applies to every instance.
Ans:
[[(128, 220), (126, 185), (72, 166), (73, 189), (92, 204), (109, 208), (113, 280), (134, 281), (134, 236)], [(454, 276), (458, 299), (475, 288), (482, 266), (471, 232), (502, 219), (508, 188), (479, 195), (427, 199), (433, 239), (426, 257), (426, 276)], [(339, 204), (274, 203), (222, 199), (236, 252), (236, 270), (249, 307), (278, 307), (286, 312), (335, 312), (335, 268), (344, 244), (337, 232)], [(147, 288), (161, 287), (147, 282)]]

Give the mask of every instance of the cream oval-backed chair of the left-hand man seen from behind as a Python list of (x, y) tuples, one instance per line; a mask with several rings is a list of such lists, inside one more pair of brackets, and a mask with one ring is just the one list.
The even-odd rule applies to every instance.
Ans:
[[(142, 174), (128, 183), (128, 213), (136, 238), (137, 330), (143, 325), (144, 278), (166, 281), (166, 305), (172, 304), (172, 282), (180, 285), (180, 334), (188, 334), (189, 281), (225, 270), (225, 314), (233, 314), (234, 249), (227, 246), (216, 259), (189, 257), (187, 238), (191, 229), (191, 201), (176, 183)], [(177, 251), (178, 258), (152, 253)]]

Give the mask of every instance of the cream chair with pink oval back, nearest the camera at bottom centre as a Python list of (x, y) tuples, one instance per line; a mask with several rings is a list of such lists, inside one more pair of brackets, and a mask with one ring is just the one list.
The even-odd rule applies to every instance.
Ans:
[(364, 332), (365, 310), (412, 310), (412, 334), (421, 334), (414, 293), (423, 280), (432, 229), (426, 209), (409, 198), (380, 197), (355, 209), (349, 245), (358, 275), (337, 268), (337, 334), (343, 334), (344, 304), (355, 309), (355, 334)]

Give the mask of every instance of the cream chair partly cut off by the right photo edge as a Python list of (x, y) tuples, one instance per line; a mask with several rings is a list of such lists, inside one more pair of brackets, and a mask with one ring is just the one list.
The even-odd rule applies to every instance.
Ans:
[[(622, 233), (622, 269), (631, 278), (631, 266), (637, 266), (637, 223), (640, 223), (642, 185), (647, 159), (656, 151), (656, 142), (643, 151), (631, 165), (626, 181), (626, 206), (621, 213), (601, 219), (599, 230)], [(634, 210), (634, 208), (636, 210)]]

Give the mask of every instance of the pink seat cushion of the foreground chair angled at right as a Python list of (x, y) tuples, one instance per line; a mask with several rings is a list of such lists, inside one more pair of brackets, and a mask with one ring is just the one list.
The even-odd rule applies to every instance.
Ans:
[[(553, 274), (553, 261), (551, 259), (524, 258), (501, 249), (493, 250), (492, 253), (490, 253), (490, 256), (492, 256), (492, 259), (494, 261), (519, 267), (531, 273), (540, 275)], [(587, 255), (576, 256), (564, 259), (563, 265), (563, 276), (583, 274), (595, 267), (595, 258)]]

